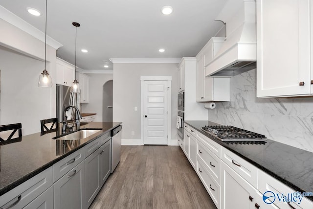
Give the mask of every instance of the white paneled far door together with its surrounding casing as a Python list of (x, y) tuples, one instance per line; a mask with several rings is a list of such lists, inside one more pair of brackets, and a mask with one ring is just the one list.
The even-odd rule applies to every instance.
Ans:
[(169, 144), (171, 80), (171, 76), (141, 76), (142, 145)]

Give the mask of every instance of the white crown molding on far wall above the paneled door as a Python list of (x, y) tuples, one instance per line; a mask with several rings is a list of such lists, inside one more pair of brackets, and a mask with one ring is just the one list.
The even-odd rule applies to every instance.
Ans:
[(179, 63), (181, 58), (110, 58), (114, 63)]

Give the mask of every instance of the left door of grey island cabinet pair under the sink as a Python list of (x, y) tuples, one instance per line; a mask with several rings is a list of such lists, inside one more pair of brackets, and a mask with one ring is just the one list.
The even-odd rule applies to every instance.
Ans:
[(85, 159), (85, 195), (86, 206), (89, 208), (92, 201), (98, 194), (102, 185), (100, 185), (100, 153), (102, 150), (98, 148), (95, 152)]

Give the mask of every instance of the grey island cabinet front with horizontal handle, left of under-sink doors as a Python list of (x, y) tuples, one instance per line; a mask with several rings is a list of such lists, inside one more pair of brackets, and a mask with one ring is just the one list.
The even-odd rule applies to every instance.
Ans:
[(85, 209), (85, 163), (81, 162), (53, 184), (55, 209)]

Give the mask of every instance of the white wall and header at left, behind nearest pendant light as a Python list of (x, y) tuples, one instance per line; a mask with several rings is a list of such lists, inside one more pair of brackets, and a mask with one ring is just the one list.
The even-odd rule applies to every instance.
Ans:
[(54, 88), (39, 88), (45, 43), (0, 19), (0, 124), (22, 123), (22, 135), (40, 132), (40, 120), (55, 117), (56, 49), (47, 46)]

